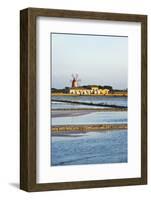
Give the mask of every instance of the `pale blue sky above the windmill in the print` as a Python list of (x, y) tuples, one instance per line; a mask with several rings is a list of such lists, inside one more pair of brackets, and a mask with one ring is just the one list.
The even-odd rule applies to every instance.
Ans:
[(79, 85), (128, 87), (128, 37), (51, 33), (52, 87)]

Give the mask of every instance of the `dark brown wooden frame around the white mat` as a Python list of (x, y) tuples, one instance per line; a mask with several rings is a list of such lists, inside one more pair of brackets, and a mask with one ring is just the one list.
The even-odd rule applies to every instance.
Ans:
[[(60, 17), (141, 23), (141, 177), (36, 183), (36, 19)], [(147, 184), (147, 16), (27, 8), (20, 12), (20, 188), (47, 191)]]

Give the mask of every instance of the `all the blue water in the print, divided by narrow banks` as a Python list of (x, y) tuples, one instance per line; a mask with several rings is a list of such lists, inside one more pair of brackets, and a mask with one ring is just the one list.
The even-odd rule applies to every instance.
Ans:
[[(107, 96), (53, 96), (53, 99), (108, 105), (127, 106), (127, 97)], [(52, 101), (53, 109), (91, 108), (72, 103)], [(100, 108), (100, 107), (99, 107)], [(102, 107), (103, 108), (103, 107)], [(75, 115), (74, 110), (68, 110), (69, 115), (52, 117), (52, 125), (77, 124), (126, 124), (127, 112), (88, 112), (82, 110)], [(127, 130), (108, 130), (101, 132), (74, 133), (51, 137), (51, 165), (79, 165), (99, 163), (127, 162)]]

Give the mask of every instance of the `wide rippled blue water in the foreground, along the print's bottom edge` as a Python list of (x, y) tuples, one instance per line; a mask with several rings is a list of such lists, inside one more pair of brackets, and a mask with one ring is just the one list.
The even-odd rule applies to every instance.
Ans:
[(127, 130), (53, 136), (51, 165), (127, 162)]

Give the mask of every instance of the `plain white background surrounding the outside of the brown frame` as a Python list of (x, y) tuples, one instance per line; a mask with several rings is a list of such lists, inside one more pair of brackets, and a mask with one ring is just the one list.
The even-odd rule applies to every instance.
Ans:
[[(13, 0), (0, 5), (0, 198), (1, 199), (149, 199), (151, 173), (147, 186), (26, 193), (19, 184), (19, 10), (26, 7), (138, 13), (148, 15), (151, 34), (150, 0)], [(151, 52), (148, 38), (148, 55)], [(148, 56), (149, 57), (149, 56)], [(150, 58), (148, 65), (150, 65)], [(150, 74), (150, 69), (148, 71)], [(150, 80), (148, 81), (150, 85)], [(150, 88), (149, 88), (150, 90)], [(149, 91), (150, 96), (150, 91)], [(150, 100), (150, 98), (149, 98)], [(149, 106), (150, 110), (150, 106)], [(150, 114), (149, 114), (150, 119)], [(150, 132), (150, 127), (149, 127)], [(149, 141), (150, 136), (149, 136)], [(149, 142), (151, 146), (151, 142)], [(149, 147), (149, 169), (151, 167)]]

